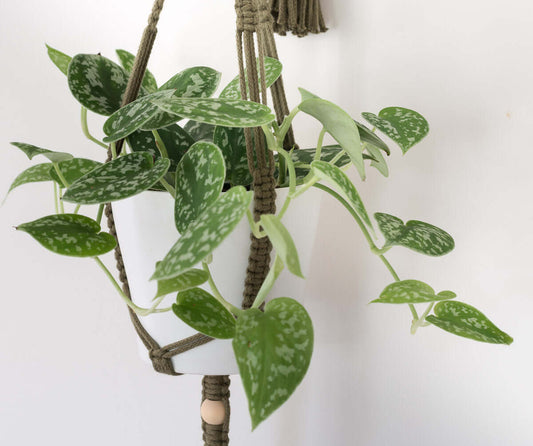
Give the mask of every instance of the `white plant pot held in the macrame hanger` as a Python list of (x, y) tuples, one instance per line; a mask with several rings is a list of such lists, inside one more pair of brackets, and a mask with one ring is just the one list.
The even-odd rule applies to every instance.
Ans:
[[(288, 189), (277, 190), (277, 206), (281, 208)], [(318, 225), (322, 192), (311, 190), (295, 199), (283, 217), (283, 223), (294, 238), (300, 255), (302, 272), (306, 275), (311, 262)], [(155, 263), (163, 259), (179, 238), (174, 225), (174, 204), (165, 192), (146, 191), (127, 200), (113, 203), (124, 265), (134, 302), (150, 307), (156, 294), (157, 283), (148, 279)], [(231, 235), (213, 252), (211, 273), (222, 295), (240, 307), (248, 254), (250, 228), (246, 218)], [(199, 266), (200, 267), (200, 266)], [(292, 297), (302, 301), (305, 281), (284, 270), (270, 293), (271, 298)], [(210, 291), (209, 285), (202, 288)], [(162, 306), (169, 306), (175, 295), (169, 295)], [(155, 341), (167, 345), (196, 333), (172, 312), (141, 317), (141, 322)], [(143, 358), (146, 348), (139, 341)], [(180, 373), (201, 375), (238, 374), (231, 340), (214, 340), (188, 352), (174, 356), (174, 369)]]

